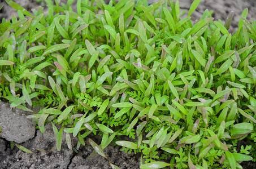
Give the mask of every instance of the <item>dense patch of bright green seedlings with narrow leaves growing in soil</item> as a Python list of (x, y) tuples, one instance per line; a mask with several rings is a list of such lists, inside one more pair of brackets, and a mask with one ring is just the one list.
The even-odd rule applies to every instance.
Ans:
[[(223, 24), (206, 10), (192, 24), (198, 0), (188, 16), (173, 0), (78, 0), (77, 12), (72, 0), (47, 0), (47, 16), (6, 2), (19, 19), (0, 25), (1, 100), (30, 112), (26, 105), (43, 106), (28, 118), (41, 132), (53, 124), (58, 150), (63, 136), (70, 149), (77, 136), (79, 149), (92, 133), (102, 135), (100, 145), (89, 139), (98, 154), (106, 157), (102, 149), (115, 140), (141, 153), (141, 168), (241, 168), (256, 156), (256, 22), (246, 20), (248, 9), (231, 34), (232, 15)], [(242, 139), (251, 145), (238, 147)]]

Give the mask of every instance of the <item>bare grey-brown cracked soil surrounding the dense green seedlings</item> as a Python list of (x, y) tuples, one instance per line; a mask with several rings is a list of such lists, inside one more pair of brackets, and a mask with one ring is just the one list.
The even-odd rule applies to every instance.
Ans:
[[(15, 2), (29, 11), (40, 5), (33, 0)], [(181, 10), (188, 10), (193, 1), (180, 0), (179, 2)], [(0, 11), (0, 20), (2, 21), (3, 17), (11, 19), (11, 14), (16, 14), (15, 10), (0, 0), (0, 6), (2, 4), (4, 6)], [(246, 7), (249, 9), (248, 19), (255, 20), (256, 1), (254, 0), (202, 0), (193, 13), (192, 19), (195, 21), (199, 19), (206, 8), (214, 11), (212, 16), (215, 20), (221, 19), (222, 21), (225, 21), (229, 12), (234, 11), (231, 32), (235, 32), (242, 11)], [(26, 118), (28, 114), (30, 113), (10, 108), (10, 104), (0, 102), (0, 126), (2, 127), (0, 168), (111, 168), (109, 161), (99, 155), (89, 158), (93, 148), (88, 140), (85, 140), (85, 146), (81, 146), (76, 153), (68, 149), (63, 136), (62, 149), (58, 152), (55, 149), (56, 140), (51, 124), (46, 124), (45, 133), (42, 134), (40, 130), (35, 130), (34, 122)], [(89, 135), (86, 138), (90, 138), (98, 144), (101, 142), (99, 136)], [(12, 144), (12, 141), (31, 150), (32, 153), (21, 151)], [(77, 139), (72, 138), (72, 145), (76, 145), (76, 143)], [(139, 168), (140, 154), (127, 154), (119, 149), (118, 146), (109, 145), (103, 152), (111, 158), (111, 163), (120, 168)], [(244, 168), (256, 168), (256, 164), (253, 162), (242, 163), (242, 166)]]

